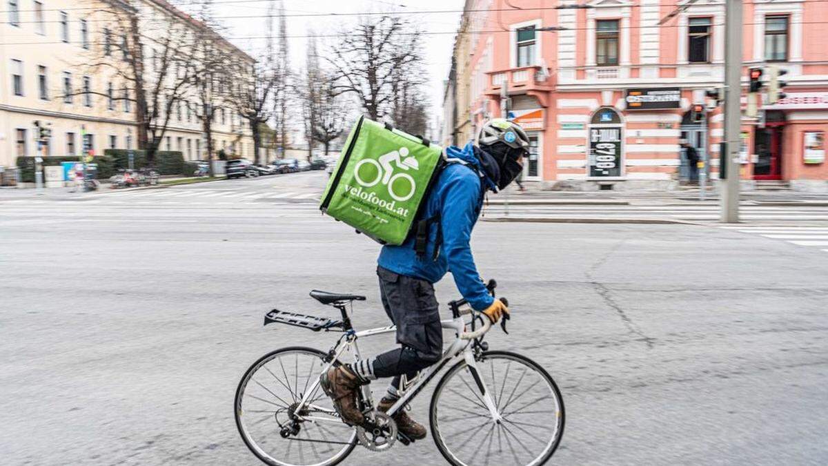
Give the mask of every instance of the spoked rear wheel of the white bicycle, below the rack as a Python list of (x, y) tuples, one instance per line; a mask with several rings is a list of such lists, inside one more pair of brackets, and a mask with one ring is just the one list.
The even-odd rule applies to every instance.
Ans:
[[(339, 419), (316, 383), (324, 357), (314, 348), (282, 348), (260, 358), (238, 383), (238, 433), (266, 464), (329, 466), (354, 449), (356, 430)], [(296, 410), (308, 391), (308, 405)]]

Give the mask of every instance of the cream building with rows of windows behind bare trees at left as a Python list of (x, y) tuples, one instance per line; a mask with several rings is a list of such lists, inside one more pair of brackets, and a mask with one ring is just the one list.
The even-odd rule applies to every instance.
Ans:
[[(126, 66), (129, 36), (110, 20), (113, 8), (132, 8), (138, 27), (161, 15), (195, 31), (205, 26), (163, 0), (9, 0), (0, 12), (0, 167), (13, 167), (18, 156), (103, 154), (107, 148), (138, 148), (133, 90), (110, 66)], [(147, 27), (147, 29), (149, 29)], [(200, 32), (203, 33), (203, 32)], [(152, 45), (152, 40), (147, 40)], [(239, 61), (253, 59), (233, 48)], [(152, 47), (150, 47), (152, 48)], [(89, 66), (90, 61), (108, 66)], [(152, 72), (152, 51), (144, 51)], [(206, 145), (196, 118), (195, 101), (173, 106), (159, 150), (181, 151), (185, 159), (205, 158)], [(51, 131), (41, 144), (40, 128)], [(253, 139), (238, 112), (220, 109), (214, 148), (253, 153)]]

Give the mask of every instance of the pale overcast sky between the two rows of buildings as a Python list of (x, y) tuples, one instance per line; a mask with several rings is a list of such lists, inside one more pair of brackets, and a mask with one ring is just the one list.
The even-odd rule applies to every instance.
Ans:
[[(460, 24), (460, 12), (463, 10), (464, 0), (274, 0), (284, 2), (288, 46), (291, 55), (291, 67), (301, 68), (305, 63), (307, 39), (310, 30), (316, 35), (336, 34), (347, 30), (349, 25), (359, 21), (358, 16), (337, 17), (330, 13), (345, 13), (353, 15), (363, 12), (400, 12), (402, 16), (411, 18), (426, 34), (424, 39), (423, 56), (426, 70), (429, 73), (428, 99), (433, 114), (442, 113), (443, 81), (449, 74), (451, 51), (454, 45), (455, 32)], [(174, 0), (186, 12), (198, 17), (197, 7), (192, 7), (194, 0)], [(214, 0), (213, 16), (225, 27), (223, 34), (230, 41), (244, 51), (261, 51), (265, 44), (262, 38), (267, 31), (267, 11), (270, 1), (267, 0)], [(421, 13), (427, 11), (445, 11), (440, 13)], [(406, 12), (416, 12), (405, 14)], [(325, 13), (329, 16), (291, 17), (291, 15), (313, 15)], [(274, 19), (277, 24), (277, 19)], [(436, 32), (436, 33), (434, 33)], [(333, 45), (337, 38), (318, 39), (320, 55)]]

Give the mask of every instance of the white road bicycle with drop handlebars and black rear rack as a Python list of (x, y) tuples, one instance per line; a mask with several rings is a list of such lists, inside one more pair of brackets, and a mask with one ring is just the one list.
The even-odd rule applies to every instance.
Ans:
[[(494, 280), (487, 285), (493, 296), (496, 286)], [(356, 427), (345, 425), (320, 390), (320, 375), (339, 365), (346, 351), (353, 352), (354, 361), (359, 361), (360, 338), (393, 333), (396, 327), (354, 330), (348, 307), (353, 311), (353, 302), (364, 301), (364, 296), (319, 290), (311, 291), (310, 296), (339, 309), (342, 318), (273, 309), (265, 315), (264, 324), (342, 332), (335, 346), (328, 352), (311, 347), (277, 349), (254, 362), (238, 383), (236, 426), (244, 444), (262, 462), (328, 466), (345, 459), (358, 443), (373, 451), (387, 451), (397, 441), (412, 443), (397, 431), (392, 415), (405, 409), (452, 362), (437, 382), (429, 409), (431, 434), (450, 464), (536, 465), (545, 464), (555, 453), (564, 429), (561, 391), (542, 366), (528, 357), (489, 351), (484, 336), (492, 323), (469, 308), (464, 299), (450, 302), (452, 318), (440, 321), (443, 328), (455, 331), (455, 340), (440, 361), (411, 381), (403, 377), (402, 396), (387, 413), (374, 410), (370, 385), (363, 386), (359, 406), (366, 420)], [(472, 318), (466, 322), (469, 315)], [(501, 326), (506, 332), (505, 319)], [(471, 330), (467, 332), (467, 328)], [(518, 391), (519, 387), (522, 390)], [(472, 444), (474, 440), (478, 441)]]

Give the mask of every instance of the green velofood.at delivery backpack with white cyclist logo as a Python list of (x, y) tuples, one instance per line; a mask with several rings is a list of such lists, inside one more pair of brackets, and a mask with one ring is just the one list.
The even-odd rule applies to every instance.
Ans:
[[(426, 205), (442, 153), (426, 138), (360, 117), (345, 140), (320, 210), (383, 245), (402, 245)], [(418, 223), (422, 229), (431, 222)]]

